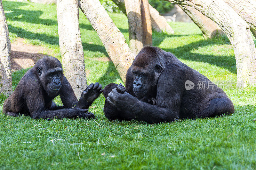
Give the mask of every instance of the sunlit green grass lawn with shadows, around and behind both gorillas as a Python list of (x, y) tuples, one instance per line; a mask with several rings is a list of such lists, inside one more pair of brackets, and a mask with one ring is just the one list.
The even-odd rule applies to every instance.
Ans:
[[(3, 6), (12, 42), (24, 38), (61, 59), (55, 5), (3, 1)], [(109, 15), (128, 40), (127, 18)], [(122, 82), (112, 62), (96, 60), (107, 53), (81, 11), (79, 22), (88, 84)], [(103, 114), (103, 96), (90, 107), (94, 120), (0, 114), (0, 169), (255, 169), (256, 88), (235, 88), (236, 60), (228, 39), (205, 40), (190, 23), (170, 25), (176, 33), (154, 32), (153, 45), (214, 82), (230, 82), (224, 91), (235, 105), (233, 115), (162, 124), (109, 121)], [(13, 89), (26, 71), (12, 74)], [(0, 97), (0, 112), (4, 99)], [(55, 102), (60, 104), (60, 98)]]

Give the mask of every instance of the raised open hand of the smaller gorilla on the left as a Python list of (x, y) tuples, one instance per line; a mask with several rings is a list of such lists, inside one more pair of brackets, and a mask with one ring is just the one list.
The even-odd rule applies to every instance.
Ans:
[(81, 97), (88, 103), (92, 103), (102, 93), (102, 85), (96, 82), (90, 84), (81, 94)]

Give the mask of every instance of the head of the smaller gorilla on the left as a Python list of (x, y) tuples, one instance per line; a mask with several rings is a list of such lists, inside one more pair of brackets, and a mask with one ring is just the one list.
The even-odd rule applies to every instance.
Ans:
[(39, 60), (35, 67), (36, 74), (48, 96), (56, 96), (64, 76), (60, 61), (54, 57), (45, 57)]

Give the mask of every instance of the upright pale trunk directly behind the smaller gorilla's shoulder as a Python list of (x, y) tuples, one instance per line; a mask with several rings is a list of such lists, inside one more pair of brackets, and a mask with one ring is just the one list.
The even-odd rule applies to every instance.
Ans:
[(77, 0), (57, 0), (57, 19), (63, 70), (79, 99), (87, 87)]

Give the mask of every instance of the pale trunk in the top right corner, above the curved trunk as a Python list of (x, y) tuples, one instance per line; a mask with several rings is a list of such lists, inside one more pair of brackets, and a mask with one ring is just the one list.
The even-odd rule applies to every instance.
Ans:
[(250, 26), (256, 38), (256, 1), (255, 0), (224, 0), (240, 15)]

